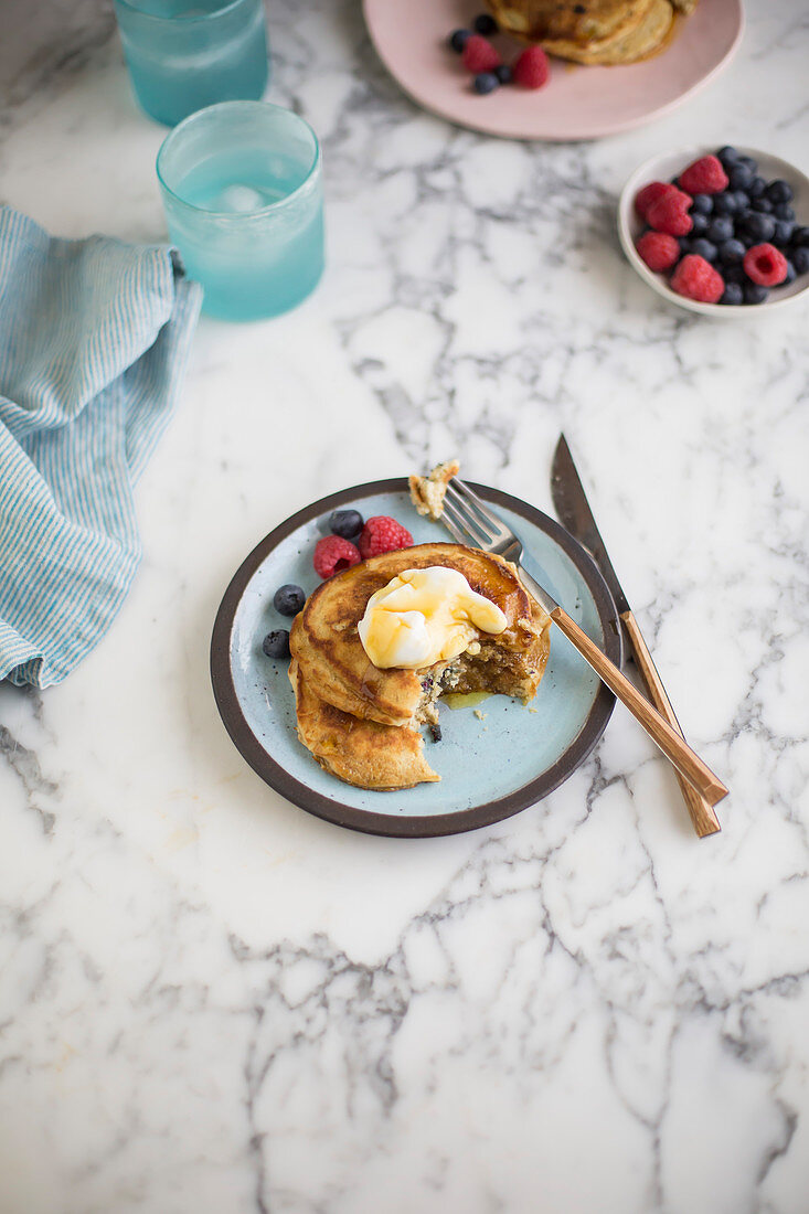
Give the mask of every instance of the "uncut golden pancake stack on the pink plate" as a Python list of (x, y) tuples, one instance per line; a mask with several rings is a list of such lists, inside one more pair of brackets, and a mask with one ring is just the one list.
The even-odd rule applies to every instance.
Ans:
[(499, 28), (575, 63), (638, 63), (663, 50), (697, 0), (488, 0)]

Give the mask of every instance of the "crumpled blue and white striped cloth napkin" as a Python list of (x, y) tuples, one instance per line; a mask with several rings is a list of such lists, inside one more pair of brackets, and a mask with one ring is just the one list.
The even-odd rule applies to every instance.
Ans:
[(60, 682), (121, 606), (132, 488), (200, 302), (166, 246), (55, 239), (0, 208), (0, 679)]

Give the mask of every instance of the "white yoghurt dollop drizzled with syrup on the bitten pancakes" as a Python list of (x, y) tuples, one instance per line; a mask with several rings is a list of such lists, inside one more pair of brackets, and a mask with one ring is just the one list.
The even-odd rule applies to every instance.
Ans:
[(418, 670), (457, 658), (479, 632), (503, 632), (497, 603), (479, 595), (463, 573), (435, 565), (405, 569), (368, 600), (357, 625), (362, 647), (380, 670)]

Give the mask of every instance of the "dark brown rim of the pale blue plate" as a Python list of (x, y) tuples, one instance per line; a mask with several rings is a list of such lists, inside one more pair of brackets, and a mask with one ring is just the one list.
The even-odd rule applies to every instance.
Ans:
[[(497, 506), (503, 506), (527, 522), (533, 523), (565, 551), (593, 595), (605, 639), (605, 653), (616, 665), (620, 665), (622, 658), (622, 637), (618, 614), (606, 583), (589, 552), (560, 523), (554, 518), (549, 518), (541, 510), (536, 510), (519, 498), (513, 498), (499, 489), (492, 489), (488, 486), (475, 484), (474, 482), (470, 483), (487, 501)], [(248, 725), (233, 682), (231, 640), (242, 596), (254, 573), (272, 550), (304, 523), (312, 522), (319, 518), (321, 515), (328, 514), (346, 503), (353, 503), (380, 493), (407, 493), (407, 481), (403, 477), (357, 484), (351, 489), (343, 489), (340, 493), (332, 493), (327, 498), (321, 498), (319, 501), (313, 501), (310, 506), (305, 506), (304, 510), (299, 510), (298, 514), (287, 518), (275, 531), (271, 531), (268, 535), (265, 535), (238, 568), (220, 603), (210, 643), (210, 675), (216, 707), (237, 750), (256, 775), (265, 783), (270, 784), (271, 788), (275, 788), (277, 793), (281, 793), (282, 796), (285, 796), (288, 801), (300, 806), (301, 810), (306, 810), (309, 813), (313, 813), (318, 818), (334, 822), (340, 827), (349, 827), (351, 830), (395, 838), (424, 839), (476, 830), (480, 827), (491, 826), (493, 822), (509, 818), (511, 815), (519, 813), (520, 810), (527, 809), (528, 805), (534, 805), (542, 800), (584, 762), (595, 744), (600, 741), (612, 715), (615, 697), (601, 683), (577, 736), (559, 759), (539, 776), (528, 781), (521, 788), (508, 793), (505, 796), (482, 802), (481, 805), (474, 805), (468, 810), (457, 810), (453, 813), (398, 816), (360, 810), (352, 805), (345, 805), (339, 800), (340, 782), (336, 777), (334, 777), (334, 798), (323, 796), (307, 784), (302, 784), (295, 779), (285, 767), (276, 762)], [(312, 762), (315, 762), (313, 759)], [(451, 789), (447, 792), (451, 796)], [(390, 796), (394, 794), (380, 793), (379, 795)], [(401, 795), (406, 796), (407, 789)]]

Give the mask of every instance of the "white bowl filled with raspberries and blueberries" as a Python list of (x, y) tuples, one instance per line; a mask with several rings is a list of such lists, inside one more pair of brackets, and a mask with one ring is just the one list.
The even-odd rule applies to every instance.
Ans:
[(751, 148), (655, 157), (621, 194), (629, 263), (672, 304), (725, 319), (809, 288), (809, 178)]

